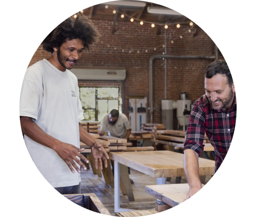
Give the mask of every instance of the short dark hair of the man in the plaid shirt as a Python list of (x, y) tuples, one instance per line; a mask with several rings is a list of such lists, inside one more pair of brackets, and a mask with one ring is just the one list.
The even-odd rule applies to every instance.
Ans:
[(227, 62), (225, 60), (216, 60), (211, 62), (204, 71), (204, 77), (206, 78), (212, 78), (216, 74), (225, 75), (230, 87), (234, 83)]

